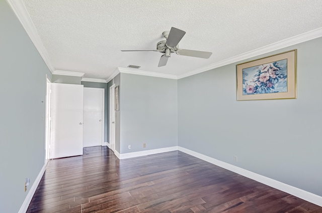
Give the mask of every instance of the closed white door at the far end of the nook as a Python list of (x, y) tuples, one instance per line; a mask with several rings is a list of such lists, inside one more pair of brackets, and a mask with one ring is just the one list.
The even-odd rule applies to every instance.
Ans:
[(104, 143), (104, 89), (84, 88), (83, 146), (101, 146)]

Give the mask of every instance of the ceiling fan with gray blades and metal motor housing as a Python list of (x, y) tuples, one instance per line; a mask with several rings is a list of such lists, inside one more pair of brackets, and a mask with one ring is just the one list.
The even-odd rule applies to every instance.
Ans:
[(159, 53), (164, 53), (161, 56), (158, 67), (163, 67), (167, 65), (168, 59), (170, 58), (171, 53), (176, 53), (181, 56), (191, 56), (203, 59), (209, 59), (211, 52), (203, 52), (197, 50), (186, 50), (179, 49), (179, 42), (183, 38), (186, 32), (172, 27), (170, 31), (163, 32), (163, 36), (167, 39), (160, 41), (156, 44), (156, 50), (121, 50), (122, 52), (131, 52), (131, 51), (156, 51)]

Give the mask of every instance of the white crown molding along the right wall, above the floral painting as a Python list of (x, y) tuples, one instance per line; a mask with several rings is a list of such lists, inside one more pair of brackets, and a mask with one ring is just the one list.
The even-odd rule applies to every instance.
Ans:
[(303, 34), (300, 34), (297, 36), (293, 36), (291, 38), (284, 39), (282, 41), (279, 41), (279, 42), (276, 42), (276, 43), (273, 43), (273, 44), (270, 44), (270, 45), (267, 45), (267, 46), (264, 46), (264, 47), (261, 47), (261, 48), (258, 48), (258, 49), (255, 49), (255, 50), (252, 50), (252, 51), (249, 51), (249, 52), (246, 52), (246, 53), (234, 56), (234, 57), (231, 57), (229, 59), (225, 59), (225, 60), (216, 62), (214, 64), (196, 69), (192, 72), (178, 76), (178, 79), (185, 78), (185, 77), (192, 76), (192, 75), (196, 75), (198, 73), (202, 73), (202, 72), (212, 70), (212, 69), (215, 69), (218, 67), (222, 67), (222, 66), (225, 66), (228, 64), (236, 63), (236, 62), (239, 62), (239, 61), (242, 61), (245, 59), (249, 59), (252, 57), (262, 55), (262, 54), (270, 53), (275, 50), (280, 50), (282, 48), (290, 47), (292, 45), (307, 42), (309, 40), (313, 40), (313, 39), (316, 39), (319, 37), (322, 37), (322, 28), (317, 28), (315, 30), (312, 30), (312, 31), (309, 31), (309, 32), (306, 32), (306, 33), (303, 33)]

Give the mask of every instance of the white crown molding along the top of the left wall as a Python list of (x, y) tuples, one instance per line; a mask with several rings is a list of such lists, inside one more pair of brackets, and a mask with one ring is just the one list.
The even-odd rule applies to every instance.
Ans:
[(7, 2), (10, 5), (11, 9), (16, 14), (23, 28), (27, 32), (29, 38), (34, 43), (37, 51), (39, 52), (41, 58), (44, 60), (48, 69), (50, 70), (51, 73), (53, 73), (55, 71), (55, 68), (51, 64), (48, 52), (45, 49), (45, 46), (38, 35), (36, 27), (32, 22), (24, 3), (22, 2), (22, 0), (7, 0)]

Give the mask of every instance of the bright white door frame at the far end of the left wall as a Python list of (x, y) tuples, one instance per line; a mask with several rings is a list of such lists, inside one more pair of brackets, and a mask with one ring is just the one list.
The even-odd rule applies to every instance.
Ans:
[(51, 80), (46, 74), (46, 104), (45, 104), (45, 163), (50, 159), (50, 128), (51, 128)]

